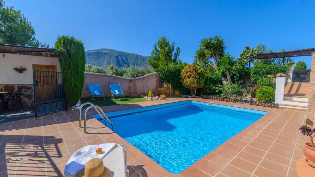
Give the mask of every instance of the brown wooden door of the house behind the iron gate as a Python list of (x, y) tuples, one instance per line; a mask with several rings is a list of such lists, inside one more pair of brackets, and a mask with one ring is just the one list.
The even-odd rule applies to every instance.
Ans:
[(54, 92), (57, 89), (55, 83), (55, 72), (57, 71), (56, 65), (33, 65), (33, 70), (39, 70), (35, 75), (35, 82), (38, 84), (37, 100), (38, 102), (50, 101)]

